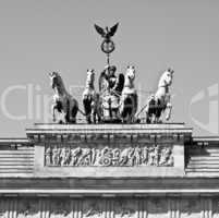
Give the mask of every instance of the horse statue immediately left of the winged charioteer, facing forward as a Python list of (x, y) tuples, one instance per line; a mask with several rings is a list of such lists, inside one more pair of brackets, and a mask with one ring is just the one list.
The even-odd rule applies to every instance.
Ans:
[(95, 86), (95, 71), (87, 70), (87, 78), (85, 90), (83, 92), (83, 106), (85, 110), (86, 120), (88, 123), (96, 123), (97, 119), (100, 122), (100, 110), (99, 108), (99, 94), (96, 93)]

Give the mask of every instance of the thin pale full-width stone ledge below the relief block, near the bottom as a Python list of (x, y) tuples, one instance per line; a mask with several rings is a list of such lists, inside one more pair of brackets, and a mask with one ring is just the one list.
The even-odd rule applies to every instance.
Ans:
[(219, 190), (211, 189), (166, 189), (166, 190), (35, 190), (35, 189), (19, 189), (19, 190), (0, 190), (0, 196), (15, 197), (15, 196), (69, 196), (69, 197), (84, 197), (84, 196), (212, 196), (218, 195)]

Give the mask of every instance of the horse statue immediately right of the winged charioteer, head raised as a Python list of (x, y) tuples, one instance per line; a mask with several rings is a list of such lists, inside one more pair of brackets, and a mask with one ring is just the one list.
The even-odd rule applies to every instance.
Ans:
[(134, 87), (135, 68), (129, 65), (124, 78), (124, 87), (120, 98), (120, 116), (122, 122), (136, 122), (135, 113), (137, 111), (137, 92)]

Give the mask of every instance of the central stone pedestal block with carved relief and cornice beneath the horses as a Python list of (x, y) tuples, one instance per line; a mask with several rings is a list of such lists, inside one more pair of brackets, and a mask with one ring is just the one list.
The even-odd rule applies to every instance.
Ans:
[(26, 133), (35, 144), (36, 175), (171, 177), (184, 174), (184, 143), (192, 129), (183, 123), (36, 124)]

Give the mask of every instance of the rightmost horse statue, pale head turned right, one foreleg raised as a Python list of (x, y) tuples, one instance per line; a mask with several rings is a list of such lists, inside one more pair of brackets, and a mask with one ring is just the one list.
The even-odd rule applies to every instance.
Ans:
[(159, 123), (161, 122), (161, 114), (167, 110), (166, 120), (171, 117), (172, 105), (170, 102), (169, 87), (172, 84), (173, 70), (166, 70), (158, 83), (158, 89), (155, 95), (151, 95), (147, 100), (146, 106), (146, 122)]

